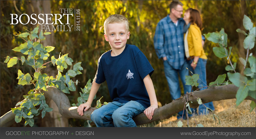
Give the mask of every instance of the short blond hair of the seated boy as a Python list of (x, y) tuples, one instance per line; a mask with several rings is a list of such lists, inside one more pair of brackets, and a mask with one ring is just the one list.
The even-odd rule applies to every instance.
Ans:
[(121, 14), (112, 14), (104, 22), (104, 33), (105, 34), (107, 32), (107, 25), (112, 24), (112, 23), (125, 23), (126, 30), (127, 30), (127, 32), (129, 31), (129, 21), (128, 21), (128, 19), (125, 16), (121, 15)]

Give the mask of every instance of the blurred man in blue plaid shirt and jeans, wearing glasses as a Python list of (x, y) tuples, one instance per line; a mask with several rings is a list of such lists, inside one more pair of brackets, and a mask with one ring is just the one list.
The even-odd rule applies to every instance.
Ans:
[[(181, 18), (182, 6), (180, 1), (172, 1), (169, 5), (170, 14), (158, 22), (154, 36), (154, 48), (158, 58), (164, 60), (164, 72), (172, 99), (177, 99), (181, 95), (178, 74), (183, 83), (184, 93), (191, 92), (191, 86), (185, 85), (185, 76), (189, 75), (186, 67), (189, 65), (185, 57), (184, 30), (188, 27), (184, 27), (186, 23)], [(179, 112), (177, 118), (181, 118), (182, 113), (183, 111)]]

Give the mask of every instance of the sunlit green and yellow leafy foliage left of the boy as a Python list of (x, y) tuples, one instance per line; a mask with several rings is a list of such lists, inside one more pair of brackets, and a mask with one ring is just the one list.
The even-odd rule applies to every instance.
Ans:
[[(12, 112), (16, 114), (15, 121), (19, 123), (24, 118), (25, 126), (29, 124), (31, 127), (34, 125), (34, 116), (38, 116), (42, 114), (42, 118), (44, 118), (46, 112), (51, 112), (53, 109), (50, 108), (45, 101), (45, 96), (40, 90), (47, 91), (47, 86), (55, 86), (60, 89), (64, 93), (70, 93), (69, 91), (75, 91), (75, 82), (73, 82), (70, 78), (75, 77), (76, 75), (82, 74), (80, 71), (83, 70), (81, 67), (81, 62), (74, 64), (73, 69), (68, 70), (64, 75), (61, 74), (63, 69), (67, 69), (68, 65), (72, 66), (72, 58), (68, 57), (68, 54), (59, 55), (58, 59), (55, 59), (54, 56), (51, 57), (51, 61), (44, 63), (44, 60), (47, 60), (49, 57), (49, 52), (53, 51), (55, 47), (52, 46), (43, 46), (40, 42), (45, 40), (44, 35), (50, 34), (50, 32), (38, 32), (39, 26), (33, 29), (33, 31), (24, 32), (24, 33), (16, 33), (15, 36), (18, 36), (25, 40), (26, 42), (20, 44), (18, 47), (12, 49), (16, 52), (21, 52), (25, 56), (21, 56), (21, 58), (9, 56), (6, 57), (4, 61), (7, 63), (7, 67), (13, 67), (17, 64), (18, 60), (25, 62), (28, 66), (31, 66), (35, 72), (30, 75), (29, 73), (22, 73), (20, 69), (18, 69), (18, 84), (20, 85), (34, 85), (34, 89), (30, 90), (27, 95), (23, 95), (24, 99), (16, 104), (15, 108), (11, 108)], [(57, 65), (56, 68), (58, 70), (58, 74), (56, 78), (52, 76), (48, 76), (46, 73), (42, 73), (42, 70), (46, 68), (46, 64), (52, 63), (53, 65)], [(77, 84), (78, 81), (76, 81)], [(91, 88), (90, 80), (85, 88), (82, 90), (84, 94), (88, 93)], [(87, 100), (87, 95), (83, 94), (83, 98), (79, 100), (81, 104), (84, 100)], [(86, 99), (87, 97), (87, 99)], [(20, 107), (18, 107), (20, 105)], [(39, 106), (40, 105), (40, 106)]]

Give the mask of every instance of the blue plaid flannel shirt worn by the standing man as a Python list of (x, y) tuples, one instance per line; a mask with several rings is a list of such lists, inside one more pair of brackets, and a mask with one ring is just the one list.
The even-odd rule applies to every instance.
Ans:
[(183, 18), (180, 18), (178, 19), (178, 25), (176, 27), (168, 14), (165, 18), (161, 19), (156, 26), (154, 35), (156, 54), (158, 58), (167, 57), (168, 62), (174, 69), (181, 69), (181, 66), (186, 60), (184, 32), (187, 31), (189, 25), (186, 26)]

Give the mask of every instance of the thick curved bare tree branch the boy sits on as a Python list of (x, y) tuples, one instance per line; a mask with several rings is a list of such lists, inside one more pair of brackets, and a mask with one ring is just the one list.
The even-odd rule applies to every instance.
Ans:
[[(55, 87), (47, 87), (48, 91), (41, 92), (44, 95), (52, 99), (57, 107), (59, 108), (59, 112), (61, 116), (65, 118), (77, 118), (77, 119), (84, 119), (90, 120), (90, 115), (96, 108), (89, 108), (86, 112), (84, 112), (83, 116), (80, 116), (77, 112), (77, 107), (71, 107), (69, 103), (69, 99), (67, 95), (63, 92), (58, 90)], [(208, 103), (211, 101), (219, 101), (223, 99), (234, 99), (236, 98), (236, 92), (238, 87), (235, 85), (225, 85), (225, 86), (215, 86), (212, 88), (208, 88), (201, 91), (195, 91), (188, 94), (188, 101), (192, 101), (193, 103), (190, 104), (191, 108), (197, 108), (199, 105), (197, 103), (197, 99), (194, 97), (201, 98), (203, 103)], [(193, 94), (194, 96), (190, 95)], [(247, 97), (247, 100), (251, 100), (255, 102), (255, 99), (252, 97)], [(176, 114), (177, 112), (183, 110), (184, 108), (183, 97), (173, 100), (171, 103), (164, 105), (163, 107), (157, 108), (154, 112), (154, 116), (152, 120), (149, 120), (144, 113), (139, 114), (133, 120), (137, 125), (151, 123), (156, 120), (164, 120), (170, 118), (172, 115)], [(1, 127), (8, 127), (14, 123), (15, 114), (11, 111), (1, 117)]]

